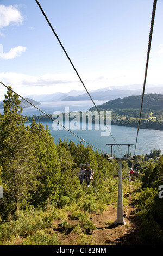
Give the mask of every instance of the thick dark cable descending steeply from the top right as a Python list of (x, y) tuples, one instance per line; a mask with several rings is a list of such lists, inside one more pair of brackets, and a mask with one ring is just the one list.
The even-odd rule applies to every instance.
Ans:
[[(157, 0), (154, 0), (154, 2), (153, 2), (153, 11), (152, 11), (152, 19), (151, 19), (151, 29), (150, 29), (150, 33), (149, 33), (146, 70), (145, 70), (145, 78), (144, 78), (144, 83), (143, 83), (143, 92), (142, 92), (142, 101), (141, 101), (139, 125), (138, 125), (138, 128), (137, 128), (137, 136), (136, 136), (136, 143), (135, 143), (135, 151), (136, 151), (137, 137), (138, 137), (138, 133), (139, 133), (139, 126), (140, 126), (140, 119), (141, 119), (141, 112), (142, 112), (142, 105), (143, 105), (143, 97), (144, 97), (144, 94), (145, 94), (145, 86), (146, 86), (146, 78), (147, 78), (147, 70), (148, 70), (148, 62), (149, 62), (149, 53), (150, 53), (150, 50), (151, 50), (151, 42), (152, 42), (152, 33), (153, 33), (153, 26), (154, 26), (156, 3), (157, 3)], [(134, 155), (135, 155), (135, 151), (134, 151)]]

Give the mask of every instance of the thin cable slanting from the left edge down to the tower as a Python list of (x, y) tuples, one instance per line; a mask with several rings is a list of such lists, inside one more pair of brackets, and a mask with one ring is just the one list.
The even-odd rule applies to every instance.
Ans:
[(33, 103), (31, 103), (30, 101), (28, 101), (27, 99), (25, 99), (24, 97), (22, 97), (21, 95), (19, 95), (18, 93), (16, 93), (14, 90), (12, 90), (11, 88), (9, 88), (7, 85), (5, 85), (4, 83), (2, 83), (0, 81), (0, 83), (5, 86), (6, 88), (8, 88), (9, 90), (11, 90), (12, 93), (17, 94), (19, 97), (21, 97), (23, 100), (25, 100), (26, 102), (28, 102), (30, 105), (32, 105), (33, 107), (35, 107), (36, 109), (38, 109), (39, 111), (41, 111), (43, 114), (45, 114), (47, 117), (51, 118), (53, 121), (55, 121), (55, 123), (59, 124), (60, 126), (64, 127), (67, 131), (71, 132), (74, 136), (78, 137), (80, 140), (84, 141), (85, 143), (89, 144), (91, 147), (101, 151), (102, 153), (105, 154), (105, 152), (103, 152), (102, 150), (96, 148), (95, 146), (93, 146), (92, 144), (90, 144), (89, 142), (86, 142), (84, 139), (80, 138), (78, 135), (76, 135), (76, 133), (72, 132), (71, 130), (68, 130), (64, 125), (60, 124), (58, 121), (56, 121), (54, 118), (52, 118), (50, 115), (46, 114), (45, 112), (43, 112), (40, 108), (36, 107)]

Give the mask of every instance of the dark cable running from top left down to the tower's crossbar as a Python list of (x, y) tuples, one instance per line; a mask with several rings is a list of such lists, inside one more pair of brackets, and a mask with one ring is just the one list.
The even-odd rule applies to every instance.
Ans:
[[(82, 82), (82, 84), (83, 84), (83, 86), (84, 86), (84, 88), (85, 88), (85, 90), (86, 90), (87, 94), (89, 95), (89, 97), (90, 97), (91, 101), (93, 102), (93, 105), (95, 106), (95, 108), (97, 109), (97, 112), (98, 112), (98, 113), (99, 113), (99, 115), (100, 115), (100, 112), (99, 112), (99, 110), (98, 110), (98, 108), (97, 108), (97, 106), (96, 106), (95, 102), (93, 101), (93, 99), (92, 99), (92, 97), (91, 97), (90, 93), (88, 92), (88, 90), (87, 90), (87, 88), (86, 88), (86, 86), (85, 86), (84, 82), (82, 81), (82, 78), (79, 76), (78, 71), (76, 70), (75, 66), (73, 65), (73, 63), (72, 63), (72, 61), (71, 61), (71, 59), (70, 59), (70, 57), (68, 56), (68, 54), (67, 54), (67, 52), (66, 52), (66, 50), (65, 50), (64, 46), (62, 45), (62, 43), (61, 43), (61, 41), (60, 41), (60, 39), (59, 39), (59, 37), (58, 37), (57, 33), (54, 31), (54, 28), (52, 27), (51, 22), (49, 22), (49, 20), (48, 20), (48, 18), (47, 18), (47, 16), (46, 16), (45, 12), (43, 11), (43, 9), (42, 9), (42, 7), (41, 7), (41, 5), (40, 5), (39, 1), (38, 1), (38, 0), (36, 0), (36, 3), (37, 3), (37, 5), (39, 5), (39, 8), (40, 8), (40, 10), (41, 10), (41, 12), (42, 12), (43, 16), (45, 17), (46, 21), (48, 22), (48, 25), (51, 27), (51, 29), (52, 29), (52, 31), (53, 31), (53, 33), (54, 33), (54, 35), (56, 36), (56, 38), (57, 38), (57, 40), (58, 40), (58, 42), (59, 42), (59, 44), (60, 44), (60, 46), (62, 47), (62, 50), (64, 50), (64, 52), (65, 52), (65, 54), (66, 54), (66, 56), (67, 56), (68, 60), (70, 61), (71, 65), (72, 65), (72, 67), (73, 67), (73, 69), (74, 69), (74, 71), (76, 72), (77, 76), (79, 77), (79, 80)], [(101, 116), (101, 115), (100, 115), (100, 116)], [(102, 119), (103, 119), (103, 118), (102, 118)], [(107, 129), (108, 129), (108, 131), (110, 132), (110, 130), (109, 130), (109, 128), (108, 128), (108, 126), (107, 126), (107, 125), (106, 125), (106, 123), (105, 123), (105, 120), (103, 120), (103, 121), (104, 121), (104, 124), (105, 124), (106, 128), (107, 128)], [(114, 142), (116, 143), (115, 138), (112, 136), (111, 132), (110, 132), (110, 135), (111, 135), (111, 137), (114, 139)], [(117, 143), (116, 143), (116, 145), (117, 145)], [(117, 145), (117, 147), (118, 147), (118, 145)], [(119, 150), (120, 150), (120, 152), (121, 152), (120, 147), (118, 147), (118, 149), (119, 149)], [(121, 155), (122, 155), (122, 152), (121, 152)]]

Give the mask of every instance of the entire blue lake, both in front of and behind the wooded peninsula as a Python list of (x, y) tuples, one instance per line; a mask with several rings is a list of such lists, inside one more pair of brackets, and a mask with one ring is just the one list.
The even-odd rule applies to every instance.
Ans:
[[(101, 105), (105, 102), (106, 101), (95, 101), (95, 104)], [(65, 107), (67, 107), (70, 112), (87, 111), (89, 108), (93, 107), (93, 103), (92, 101), (50, 101), (50, 102), (41, 102), (41, 105), (38, 105), (37, 107), (47, 114), (52, 114), (54, 111), (64, 113)], [(3, 109), (0, 109), (0, 113), (3, 114)], [(23, 109), (23, 115), (30, 116), (30, 115), (40, 115), (40, 114), (42, 113), (34, 107)], [(26, 123), (26, 125), (27, 124), (30, 125), (29, 123)], [(57, 131), (53, 130), (53, 126), (52, 126), (53, 121), (49, 121), (47, 123), (42, 122), (43, 126), (46, 126), (46, 124), (49, 127), (51, 135), (54, 136), (55, 143), (57, 141), (59, 142), (59, 138), (61, 138), (61, 140), (68, 138), (68, 141), (72, 140), (76, 144), (79, 142), (79, 138), (77, 138), (67, 130), (57, 130)], [(136, 128), (111, 125), (111, 129), (109, 130), (111, 131), (111, 134), (114, 137), (117, 144), (135, 144), (136, 142), (136, 135), (137, 135)], [(106, 144), (115, 144), (115, 141), (111, 137), (111, 135), (101, 136), (102, 130), (101, 129), (95, 130), (94, 126), (92, 131), (91, 130), (75, 130), (73, 132), (80, 138), (84, 139), (86, 142), (92, 144), (94, 147), (108, 154), (111, 153), (111, 147), (110, 145), (106, 145)], [(163, 152), (162, 141), (163, 141), (162, 131), (139, 129), (139, 136), (137, 139), (135, 153), (149, 154), (151, 150), (153, 150), (153, 148), (155, 148), (156, 150), (160, 149), (162, 153)], [(85, 142), (83, 142), (83, 144), (87, 145)], [(96, 151), (95, 148), (93, 149)], [(117, 157), (121, 157), (122, 155), (128, 153), (127, 146), (121, 147), (122, 155), (117, 145), (115, 145), (112, 150), (113, 150), (113, 153), (115, 153), (115, 156)], [(134, 150), (135, 150), (135, 147), (130, 146), (130, 152), (132, 155), (134, 154)]]

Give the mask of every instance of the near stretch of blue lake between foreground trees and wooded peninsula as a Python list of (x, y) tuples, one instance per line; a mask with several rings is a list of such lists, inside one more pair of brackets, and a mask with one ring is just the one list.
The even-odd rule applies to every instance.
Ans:
[[(53, 121), (52, 122), (42, 122), (42, 125), (45, 127), (46, 124), (51, 132), (51, 135), (54, 137), (54, 142), (59, 142), (59, 138), (63, 141), (68, 138), (68, 141), (73, 141), (74, 143), (79, 143), (79, 138), (74, 136), (71, 132), (67, 130), (53, 130)], [(28, 123), (29, 125), (29, 123)], [(94, 125), (93, 125), (94, 127)], [(111, 125), (111, 134), (114, 137), (117, 144), (135, 144), (136, 142), (136, 135), (137, 129), (133, 127), (125, 127), (125, 126), (117, 126)], [(92, 131), (86, 130), (76, 130), (73, 131), (77, 136), (84, 139), (86, 142), (92, 144), (97, 149), (111, 154), (111, 146), (106, 144), (115, 144), (114, 139), (110, 136), (101, 136), (101, 130), (94, 130)], [(160, 149), (161, 153), (163, 152), (163, 132), (158, 130), (147, 130), (147, 129), (139, 129), (139, 136), (137, 139), (136, 145), (136, 152), (135, 154), (149, 154), (153, 148), (156, 150)], [(87, 145), (87, 143), (82, 142), (83, 145)], [(121, 147), (122, 155), (128, 153), (128, 147), (122, 145)], [(93, 148), (93, 150), (97, 150)], [(98, 150), (98, 151), (99, 151)], [(135, 146), (130, 146), (130, 153), (131, 155), (134, 154)], [(99, 153), (101, 153), (99, 151)], [(112, 152), (117, 157), (121, 157), (120, 150), (118, 149), (117, 145), (112, 148)]]

